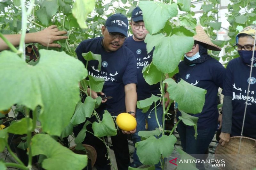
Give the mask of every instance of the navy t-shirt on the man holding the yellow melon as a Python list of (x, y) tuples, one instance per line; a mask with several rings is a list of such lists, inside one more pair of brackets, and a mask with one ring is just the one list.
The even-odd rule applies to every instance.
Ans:
[(102, 46), (103, 37), (97, 37), (82, 41), (76, 48), (76, 54), (80, 61), (86, 66), (86, 60), (82, 53), (91, 51), (93, 54), (101, 55), (101, 69), (98, 70), (99, 62), (91, 60), (88, 62), (88, 74), (94, 77), (104, 78), (102, 92), (106, 96), (112, 96), (106, 103), (101, 103), (96, 109), (102, 115), (108, 110), (112, 115), (126, 112), (124, 86), (130, 83), (137, 84), (137, 70), (135, 56), (131, 50), (122, 46), (115, 52), (107, 52)]

